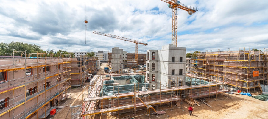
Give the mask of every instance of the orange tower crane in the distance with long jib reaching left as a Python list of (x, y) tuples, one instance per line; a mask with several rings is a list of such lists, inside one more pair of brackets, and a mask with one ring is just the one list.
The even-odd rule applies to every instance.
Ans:
[(138, 62), (138, 44), (142, 44), (142, 45), (145, 45), (145, 46), (148, 45), (148, 43), (141, 43), (141, 42), (139, 42), (137, 40), (132, 40), (132, 39), (128, 39), (128, 38), (124, 38), (124, 37), (120, 37), (120, 36), (116, 36), (116, 35), (112, 35), (112, 34), (105, 34), (105, 33), (96, 32), (96, 31), (93, 31), (93, 33), (98, 34), (98, 35), (104, 35), (104, 36), (107, 36), (107, 37), (112, 37), (112, 38), (116, 38), (116, 39), (136, 43), (135, 60), (137, 62)]

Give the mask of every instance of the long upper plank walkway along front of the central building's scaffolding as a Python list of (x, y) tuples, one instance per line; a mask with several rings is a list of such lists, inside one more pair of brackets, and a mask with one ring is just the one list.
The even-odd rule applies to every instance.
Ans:
[[(186, 89), (195, 89), (195, 88), (202, 88), (202, 87), (209, 87), (209, 86), (216, 86), (216, 85), (222, 85), (222, 84), (228, 84), (226, 82), (224, 83), (213, 83), (213, 84), (204, 84), (204, 85), (195, 85), (195, 86), (182, 86), (182, 87), (175, 87), (175, 88), (166, 88), (166, 89), (157, 89), (157, 90), (149, 90), (149, 91), (140, 91), (138, 95), (146, 95), (151, 93), (163, 93), (163, 92), (169, 92), (169, 91), (176, 91), (176, 90), (186, 90)], [(115, 95), (108, 95), (108, 96), (102, 96), (102, 97), (89, 97), (85, 98), (84, 101), (97, 101), (97, 100), (104, 100), (104, 99), (113, 99), (113, 98), (123, 98), (123, 97), (130, 97), (134, 96), (134, 93), (117, 93)]]

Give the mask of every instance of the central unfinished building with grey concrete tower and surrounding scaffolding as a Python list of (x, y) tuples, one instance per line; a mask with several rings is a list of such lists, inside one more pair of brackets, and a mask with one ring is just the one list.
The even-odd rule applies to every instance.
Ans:
[[(161, 108), (163, 105), (169, 105), (169, 109), (179, 108), (183, 100), (190, 105), (198, 105), (201, 98), (224, 98), (223, 93), (228, 92), (228, 82), (222, 82), (218, 77), (209, 79), (196, 76), (185, 79), (185, 48), (166, 45), (159, 51), (147, 52), (147, 72), (100, 73), (94, 76), (90, 84), (83, 87), (82, 104), (73, 105), (77, 98), (70, 106), (72, 119), (124, 118), (122, 115), (135, 118), (159, 114), (164, 111)], [(151, 72), (153, 63), (159, 63), (155, 72)], [(182, 70), (173, 70), (176, 66)], [(152, 78), (148, 78), (151, 73), (157, 74), (153, 82)], [(111, 79), (104, 80), (106, 75), (111, 75)]]

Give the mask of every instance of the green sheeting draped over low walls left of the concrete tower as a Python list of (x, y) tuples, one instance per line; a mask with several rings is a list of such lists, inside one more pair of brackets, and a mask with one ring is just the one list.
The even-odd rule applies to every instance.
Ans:
[[(148, 89), (149, 84), (144, 83), (145, 76), (135, 75), (135, 76), (117, 76), (112, 77), (113, 80), (105, 80), (102, 85), (102, 93), (100, 96), (113, 95), (115, 93), (129, 93), (134, 92), (135, 90), (143, 90), (144, 88)], [(129, 85), (113, 85), (114, 80), (129, 80)], [(144, 88), (143, 88), (144, 87)]]

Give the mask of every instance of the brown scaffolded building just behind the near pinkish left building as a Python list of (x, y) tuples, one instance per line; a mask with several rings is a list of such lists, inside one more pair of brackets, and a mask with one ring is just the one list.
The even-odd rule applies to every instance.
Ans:
[(71, 58), (71, 82), (72, 86), (82, 87), (88, 78), (88, 74), (96, 73), (99, 60), (96, 57)]

